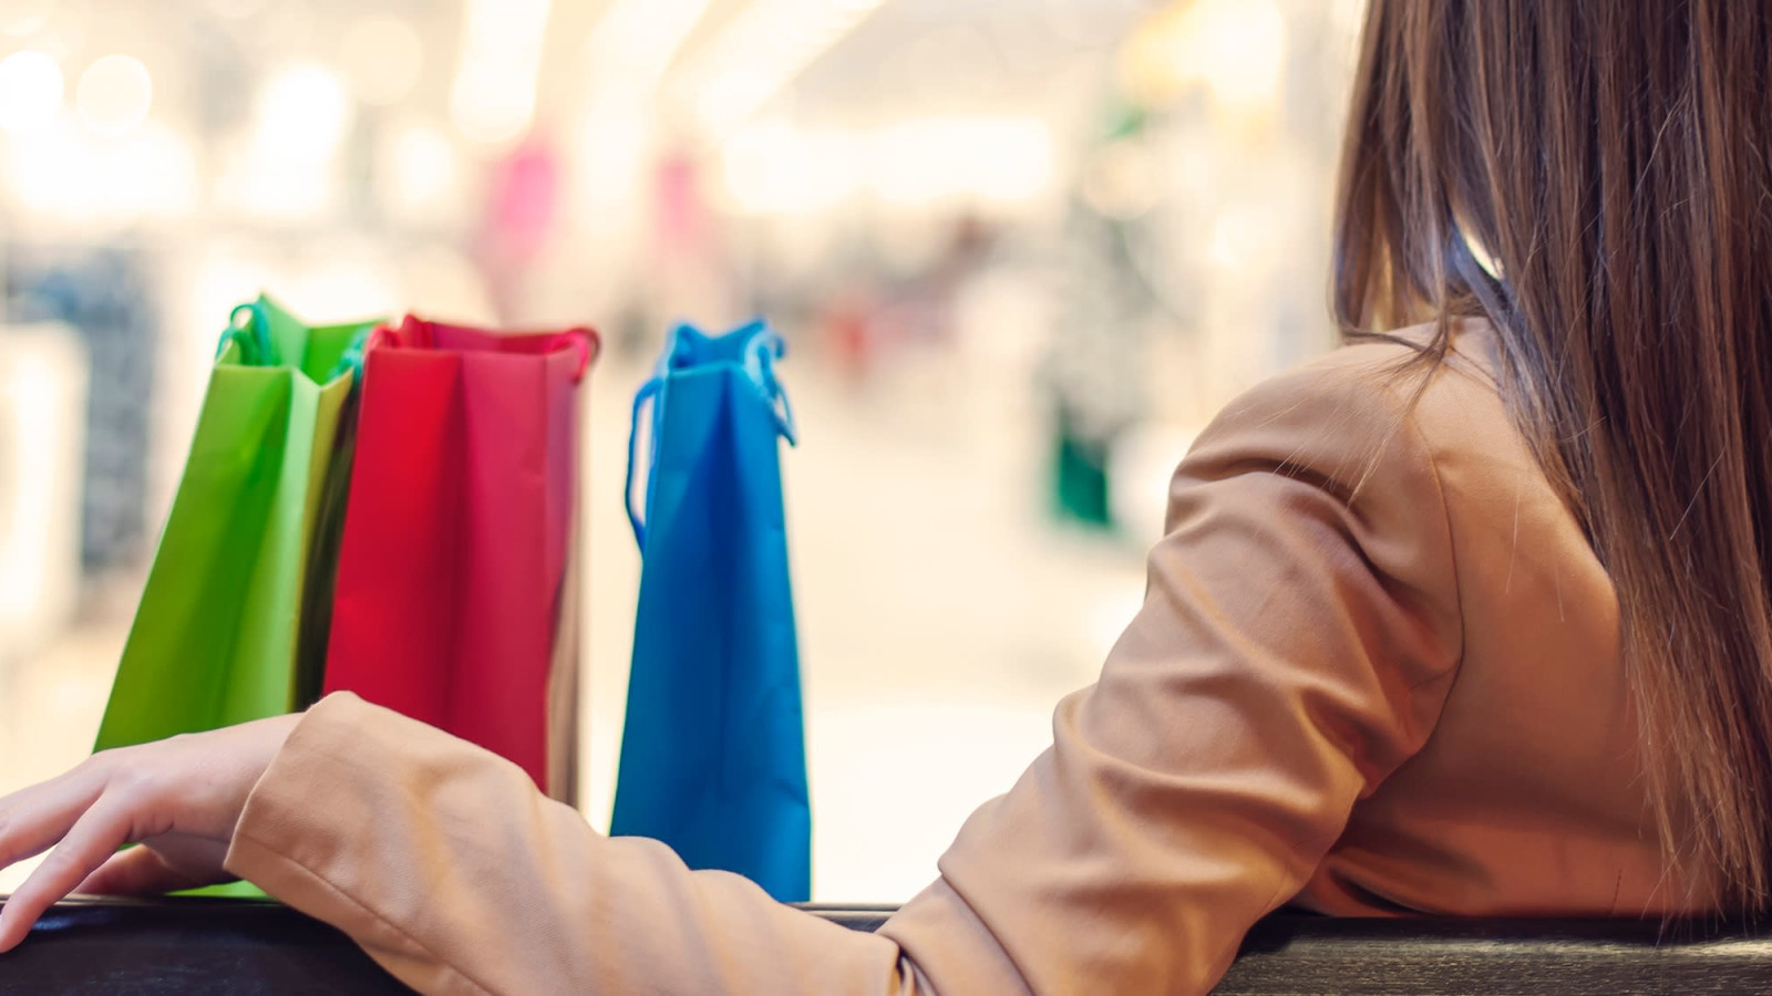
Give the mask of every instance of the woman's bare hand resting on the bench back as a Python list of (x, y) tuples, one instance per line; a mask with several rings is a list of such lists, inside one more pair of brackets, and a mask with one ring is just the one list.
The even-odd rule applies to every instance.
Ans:
[[(71, 891), (147, 895), (229, 881), (252, 787), (299, 716), (108, 750), (0, 799), (0, 868), (55, 851), (0, 909), (0, 952)], [(142, 844), (117, 852), (124, 844)]]

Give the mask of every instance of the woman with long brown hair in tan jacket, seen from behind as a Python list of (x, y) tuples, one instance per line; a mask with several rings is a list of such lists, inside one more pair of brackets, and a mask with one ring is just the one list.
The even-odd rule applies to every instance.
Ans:
[(73, 888), (229, 874), (468, 992), (1182, 992), (1286, 902), (1758, 914), (1768, 67), (1751, 0), (1375, 0), (1356, 344), (1205, 432), (1099, 684), (879, 934), (335, 696), (0, 801), (0, 861), (58, 842), (0, 950)]

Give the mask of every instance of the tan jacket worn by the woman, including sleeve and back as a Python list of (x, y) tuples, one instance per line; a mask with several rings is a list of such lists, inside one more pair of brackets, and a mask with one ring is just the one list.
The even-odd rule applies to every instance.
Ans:
[(1286, 902), (1662, 909), (1611, 581), (1503, 411), (1494, 333), (1455, 344), (1414, 408), (1405, 349), (1356, 346), (1217, 418), (1100, 681), (879, 934), (599, 836), (349, 695), (229, 868), (429, 992), (1200, 992)]

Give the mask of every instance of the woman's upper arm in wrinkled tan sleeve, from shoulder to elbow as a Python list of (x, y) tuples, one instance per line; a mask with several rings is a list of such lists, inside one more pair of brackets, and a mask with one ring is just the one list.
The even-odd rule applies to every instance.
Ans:
[(1464, 622), (1398, 354), (1338, 353), (1201, 434), (1099, 682), (882, 930), (941, 992), (1205, 992), (1421, 750)]

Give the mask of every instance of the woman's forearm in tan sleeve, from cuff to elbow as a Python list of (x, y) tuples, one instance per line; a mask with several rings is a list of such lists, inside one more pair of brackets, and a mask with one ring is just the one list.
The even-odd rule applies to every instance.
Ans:
[(422, 992), (898, 992), (898, 952), (606, 838), (473, 744), (333, 695), (253, 789), (227, 868)]

